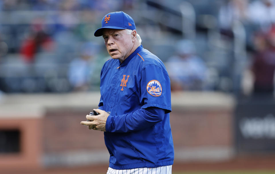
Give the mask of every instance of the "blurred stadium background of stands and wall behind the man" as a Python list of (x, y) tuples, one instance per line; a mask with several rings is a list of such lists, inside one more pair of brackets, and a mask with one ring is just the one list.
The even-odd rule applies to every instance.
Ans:
[(103, 133), (80, 121), (113, 11), (168, 69), (173, 173), (275, 170), (274, 0), (1, 0), (0, 173), (107, 171)]

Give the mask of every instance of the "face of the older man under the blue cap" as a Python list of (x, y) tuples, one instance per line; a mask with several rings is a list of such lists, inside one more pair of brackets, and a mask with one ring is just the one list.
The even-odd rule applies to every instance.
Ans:
[(109, 55), (123, 62), (131, 54), (133, 48), (132, 35), (125, 29), (104, 29), (103, 39)]

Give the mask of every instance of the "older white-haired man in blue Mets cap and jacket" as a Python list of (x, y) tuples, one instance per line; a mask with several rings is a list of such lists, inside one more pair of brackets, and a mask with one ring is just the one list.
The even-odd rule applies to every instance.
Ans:
[(171, 174), (171, 90), (164, 64), (142, 47), (133, 19), (122, 11), (105, 15), (94, 35), (103, 36), (111, 58), (101, 70), (99, 115), (87, 115), (90, 121), (81, 124), (104, 131), (107, 173)]

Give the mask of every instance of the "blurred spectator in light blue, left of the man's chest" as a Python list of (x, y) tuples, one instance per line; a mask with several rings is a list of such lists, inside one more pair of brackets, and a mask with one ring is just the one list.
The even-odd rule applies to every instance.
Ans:
[(93, 43), (85, 43), (79, 57), (69, 65), (68, 78), (74, 91), (89, 89), (91, 76), (95, 68), (97, 47)]

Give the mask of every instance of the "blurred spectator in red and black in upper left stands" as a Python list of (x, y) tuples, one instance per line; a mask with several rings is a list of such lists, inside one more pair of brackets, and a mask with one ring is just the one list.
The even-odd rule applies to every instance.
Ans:
[(34, 20), (32, 25), (32, 33), (23, 41), (20, 48), (20, 53), (27, 63), (35, 61), (35, 55), (42, 51), (51, 51), (53, 47), (53, 40), (44, 31), (43, 24), (39, 19)]

